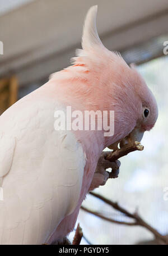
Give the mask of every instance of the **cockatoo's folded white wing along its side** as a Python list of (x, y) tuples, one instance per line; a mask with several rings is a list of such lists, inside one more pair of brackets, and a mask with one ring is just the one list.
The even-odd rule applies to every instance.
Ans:
[(43, 244), (76, 208), (85, 154), (71, 131), (54, 130), (55, 109), (63, 107), (25, 99), (0, 117), (1, 132), (13, 138), (0, 141), (1, 244)]

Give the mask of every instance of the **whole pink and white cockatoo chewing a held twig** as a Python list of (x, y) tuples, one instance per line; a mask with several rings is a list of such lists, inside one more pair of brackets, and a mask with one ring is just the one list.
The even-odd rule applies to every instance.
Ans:
[[(102, 150), (115, 149), (127, 135), (140, 141), (155, 125), (153, 94), (134, 67), (101, 43), (96, 13), (96, 6), (87, 13), (74, 65), (0, 117), (1, 244), (62, 242), (88, 190), (108, 178), (107, 172), (95, 172)], [(67, 106), (82, 113), (114, 111), (114, 135), (104, 136), (103, 129), (55, 129), (55, 111), (66, 113)]]

